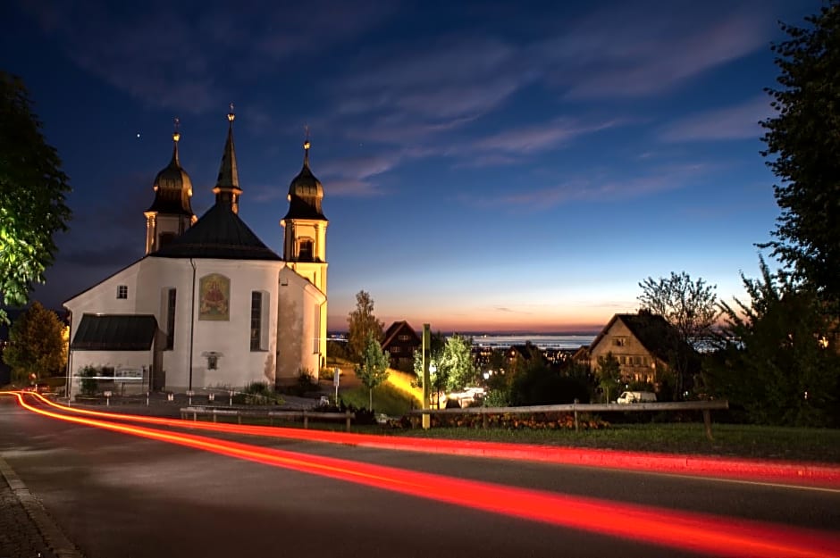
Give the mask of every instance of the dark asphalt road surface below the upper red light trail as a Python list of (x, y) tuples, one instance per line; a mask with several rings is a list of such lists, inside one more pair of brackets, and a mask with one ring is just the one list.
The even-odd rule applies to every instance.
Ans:
[[(365, 464), (397, 468), (402, 472), (396, 475), (365, 473), (374, 484), (389, 476), (391, 487), (423, 482), (415, 480), (416, 472), (442, 477), (424, 485), (425, 497), (411, 496), (57, 421), (22, 409), (11, 398), (0, 398), (0, 455), (88, 558), (732, 555), (727, 550), (734, 548), (714, 540), (716, 551), (684, 548), (697, 550), (694, 543), (703, 532), (713, 537), (721, 529), (741, 525), (768, 537), (789, 531), (805, 541), (815, 535), (827, 540), (827, 547), (840, 548), (840, 491), (832, 489), (297, 440), (218, 438), (256, 446), (256, 452), (293, 452), (301, 462), (347, 460), (349, 465), (340, 467), (357, 472), (366, 471)], [(459, 481), (446, 480), (452, 478), (477, 483), (461, 487)], [(469, 505), (483, 495), (491, 500), (485, 510), (498, 509), (453, 503), (463, 500)], [(551, 502), (566, 498), (562, 504), (545, 504), (553, 508), (547, 513), (559, 515), (555, 524), (510, 515), (508, 506), (532, 495), (554, 498)], [(540, 512), (539, 506), (534, 510)], [(684, 512), (695, 525), (695, 530), (685, 531), (687, 536), (670, 527), (672, 514), (676, 523)], [(583, 529), (572, 526), (592, 513), (597, 513), (594, 527), (592, 522)], [(646, 513), (654, 519), (644, 522)], [(630, 535), (617, 537), (615, 529)], [(634, 537), (636, 530), (644, 540)]]

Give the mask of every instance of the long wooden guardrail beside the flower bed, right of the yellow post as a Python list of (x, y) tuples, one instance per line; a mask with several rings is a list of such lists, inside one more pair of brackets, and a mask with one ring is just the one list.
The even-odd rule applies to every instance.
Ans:
[(718, 401), (684, 401), (671, 403), (634, 403), (634, 404), (603, 404), (603, 403), (572, 403), (562, 405), (532, 405), (530, 407), (466, 407), (465, 409), (416, 409), (408, 414), (480, 414), (482, 427), (487, 428), (487, 415), (490, 414), (526, 414), (534, 412), (572, 412), (575, 414), (575, 431), (580, 431), (577, 421), (578, 412), (659, 412), (659, 411), (702, 411), (706, 437), (711, 436), (711, 412), (729, 408), (727, 400)]

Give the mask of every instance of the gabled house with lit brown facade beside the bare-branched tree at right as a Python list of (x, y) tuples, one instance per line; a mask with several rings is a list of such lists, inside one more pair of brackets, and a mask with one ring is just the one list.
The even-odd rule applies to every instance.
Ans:
[(676, 329), (662, 316), (649, 312), (616, 314), (589, 346), (590, 367), (611, 353), (618, 361), (625, 381), (647, 382), (658, 386), (662, 374), (677, 362), (693, 368), (698, 355), (680, 340)]

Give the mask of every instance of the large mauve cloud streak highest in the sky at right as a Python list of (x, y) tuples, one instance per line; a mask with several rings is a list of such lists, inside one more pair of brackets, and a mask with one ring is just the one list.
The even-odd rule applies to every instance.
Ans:
[(550, 80), (569, 99), (651, 96), (766, 47), (773, 24), (756, 3), (613, 5), (534, 51), (552, 62)]

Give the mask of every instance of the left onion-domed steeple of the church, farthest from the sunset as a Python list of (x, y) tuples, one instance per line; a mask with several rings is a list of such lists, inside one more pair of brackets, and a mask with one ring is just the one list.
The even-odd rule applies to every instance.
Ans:
[(172, 160), (155, 177), (155, 200), (143, 214), (146, 215), (146, 254), (155, 252), (172, 238), (181, 235), (196, 221), (189, 198), (192, 196), (192, 181), (187, 171), (181, 168), (178, 157), (178, 142), (181, 121), (175, 119), (172, 132)]

